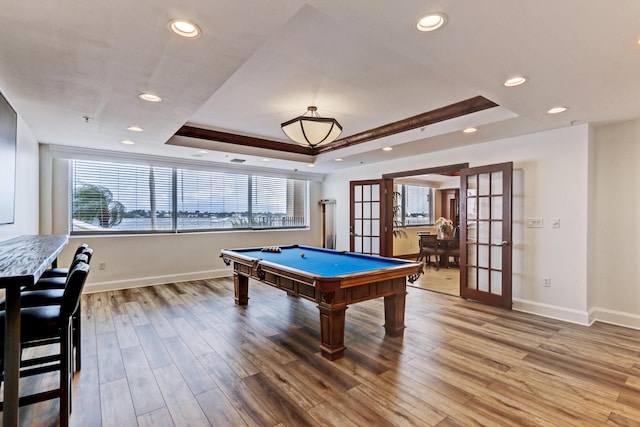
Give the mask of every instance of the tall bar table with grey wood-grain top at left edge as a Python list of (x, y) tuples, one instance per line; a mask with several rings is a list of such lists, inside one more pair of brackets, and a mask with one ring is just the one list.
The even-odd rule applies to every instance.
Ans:
[(6, 291), (4, 426), (17, 426), (20, 385), (20, 292), (35, 285), (69, 242), (67, 235), (25, 235), (0, 242), (0, 288)]

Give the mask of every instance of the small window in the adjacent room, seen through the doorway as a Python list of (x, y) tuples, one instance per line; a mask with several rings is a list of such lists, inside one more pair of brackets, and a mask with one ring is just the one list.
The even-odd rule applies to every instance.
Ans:
[(418, 185), (396, 185), (397, 224), (433, 224), (433, 188)]

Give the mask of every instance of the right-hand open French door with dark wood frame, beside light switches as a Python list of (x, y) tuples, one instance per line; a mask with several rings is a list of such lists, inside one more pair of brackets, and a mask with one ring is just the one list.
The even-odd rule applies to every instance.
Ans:
[(460, 296), (511, 309), (513, 163), (460, 171)]

